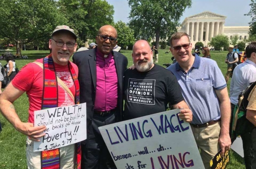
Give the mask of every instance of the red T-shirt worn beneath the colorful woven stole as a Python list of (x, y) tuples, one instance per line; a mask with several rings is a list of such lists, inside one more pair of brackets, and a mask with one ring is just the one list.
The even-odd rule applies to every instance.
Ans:
[[(36, 60), (43, 63), (43, 58)], [(71, 62), (76, 74), (77, 66)], [(75, 86), (68, 65), (54, 64), (57, 76), (66, 84), (75, 97)], [(28, 122), (34, 123), (34, 111), (41, 110), (43, 96), (43, 69), (35, 63), (24, 66), (12, 80), (14, 87), (26, 91), (29, 101)], [(58, 84), (58, 107), (74, 105), (70, 95)]]

